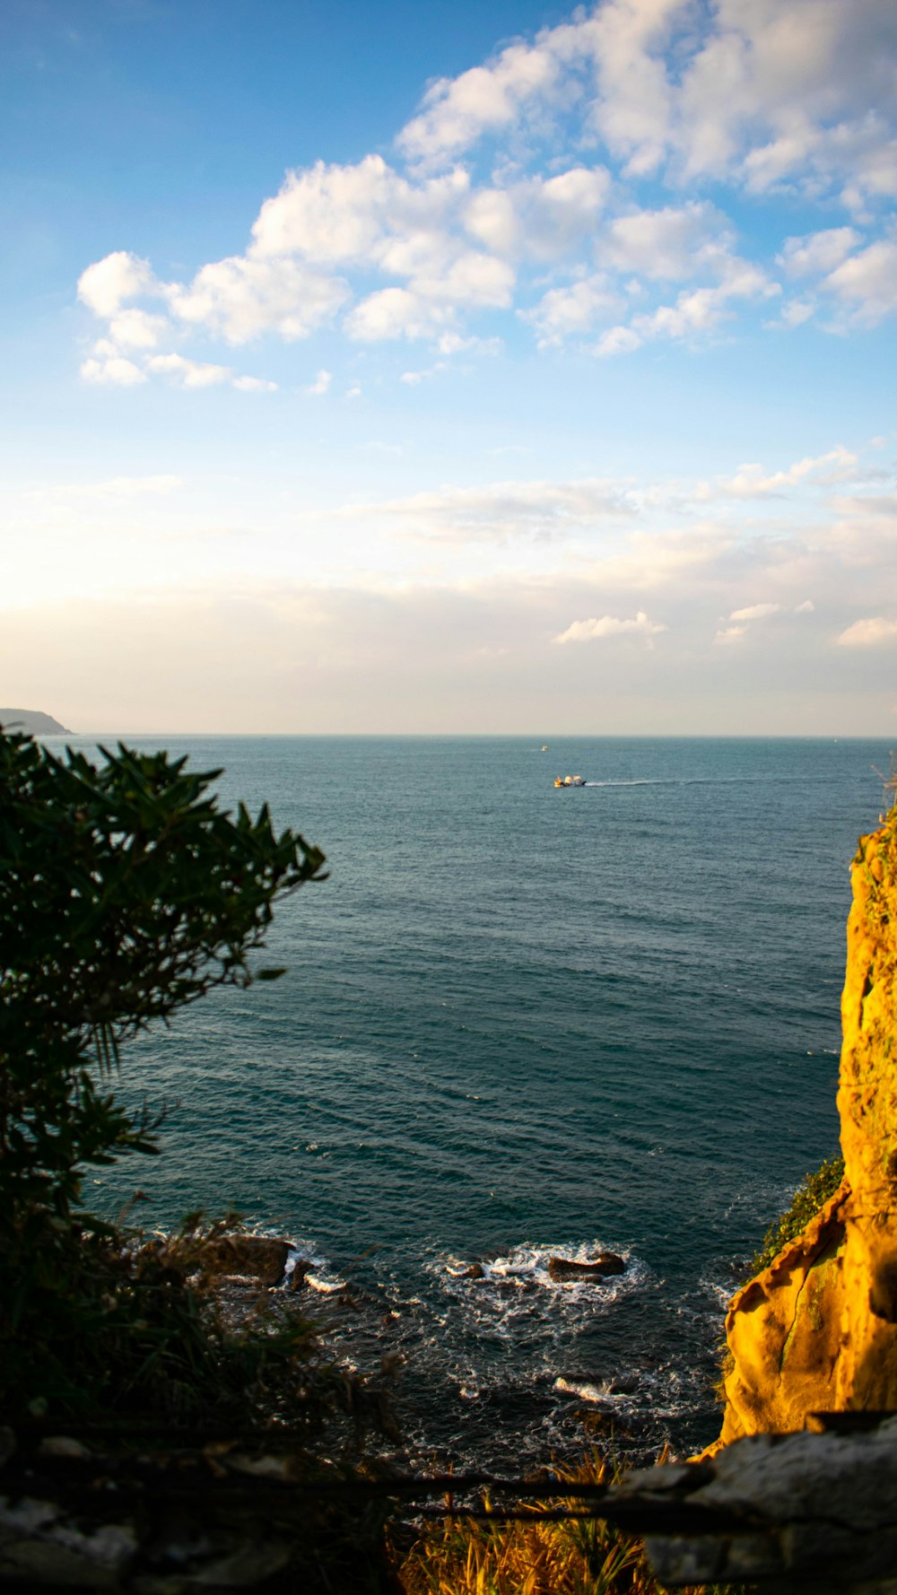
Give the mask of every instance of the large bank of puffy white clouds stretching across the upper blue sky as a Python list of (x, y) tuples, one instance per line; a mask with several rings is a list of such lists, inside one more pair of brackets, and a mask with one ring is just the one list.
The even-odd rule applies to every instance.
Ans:
[(85, 380), (136, 386), (164, 370), (140, 356), (195, 337), (340, 324), (364, 345), (441, 343), (506, 311), (599, 357), (691, 345), (780, 293), (709, 182), (846, 207), (849, 223), (773, 242), (806, 290), (766, 325), (832, 303), (833, 330), (871, 325), (897, 309), (897, 242), (876, 222), (897, 195), (895, 49), (881, 0), (602, 0), (431, 85), (391, 160), (287, 172), (243, 252), (182, 282), (126, 249), (89, 265), (78, 297), (105, 327)]

